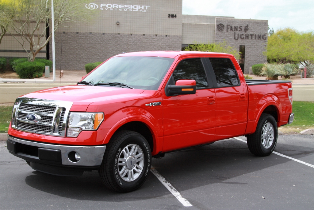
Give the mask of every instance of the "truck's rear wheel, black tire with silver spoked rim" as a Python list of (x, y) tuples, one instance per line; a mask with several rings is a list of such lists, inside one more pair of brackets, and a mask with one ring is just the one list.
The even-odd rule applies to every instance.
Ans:
[(247, 136), (247, 146), (256, 156), (268, 156), (276, 147), (278, 128), (275, 118), (262, 114), (258, 120), (255, 133)]

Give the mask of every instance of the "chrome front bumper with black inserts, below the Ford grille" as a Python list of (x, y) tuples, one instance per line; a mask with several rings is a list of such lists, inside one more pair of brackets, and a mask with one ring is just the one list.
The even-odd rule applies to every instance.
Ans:
[[(77, 146), (54, 145), (33, 142), (8, 135), (7, 147), (11, 154), (23, 158), (26, 161), (60, 167), (87, 167), (95, 168), (101, 165), (106, 145)], [(78, 152), (80, 160), (73, 162), (69, 159), (69, 153)]]

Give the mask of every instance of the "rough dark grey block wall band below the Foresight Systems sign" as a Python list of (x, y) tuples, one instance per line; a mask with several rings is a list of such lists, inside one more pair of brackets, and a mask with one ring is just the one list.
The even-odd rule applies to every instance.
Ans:
[[(60, 69), (62, 36), (62, 70), (84, 70), (85, 64), (105, 61), (122, 52), (181, 50), (181, 36), (57, 32), (55, 34), (56, 69)], [(50, 42), (51, 44), (51, 42)], [(50, 47), (51, 53), (52, 47)]]

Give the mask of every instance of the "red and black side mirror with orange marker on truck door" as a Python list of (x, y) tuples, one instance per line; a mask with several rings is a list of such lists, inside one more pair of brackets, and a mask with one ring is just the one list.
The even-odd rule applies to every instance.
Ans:
[(178, 80), (176, 85), (168, 85), (169, 95), (186, 95), (196, 93), (195, 80)]

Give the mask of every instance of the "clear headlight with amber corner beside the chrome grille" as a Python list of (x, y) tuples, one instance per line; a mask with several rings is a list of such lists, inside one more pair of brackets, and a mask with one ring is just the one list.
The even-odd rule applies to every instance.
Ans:
[(70, 112), (68, 137), (77, 137), (81, 130), (97, 130), (104, 120), (104, 113)]

